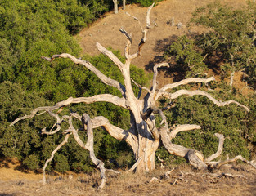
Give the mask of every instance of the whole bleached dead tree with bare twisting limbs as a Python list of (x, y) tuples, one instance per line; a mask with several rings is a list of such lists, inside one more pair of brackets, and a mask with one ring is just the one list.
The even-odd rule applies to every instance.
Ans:
[[(124, 85), (119, 83), (118, 81), (106, 77), (105, 74), (101, 73), (96, 67), (94, 67), (90, 62), (85, 60), (80, 60), (70, 54), (61, 54), (61, 55), (53, 55), (52, 57), (43, 57), (46, 60), (52, 62), (56, 58), (68, 58), (72, 60), (77, 65), (83, 65), (93, 73), (97, 75), (97, 77), (101, 80), (101, 82), (109, 85), (111, 87), (115, 87), (118, 89), (122, 96), (113, 96), (110, 94), (103, 95), (95, 95), (91, 97), (78, 97), (73, 98), (70, 97), (67, 100), (63, 100), (61, 102), (56, 103), (53, 106), (47, 107), (38, 107), (34, 109), (30, 115), (25, 115), (24, 117), (17, 118), (11, 125), (14, 125), (16, 122), (25, 119), (25, 118), (33, 118), (35, 115), (43, 114), (47, 112), (53, 118), (56, 118), (56, 123), (52, 126), (51, 130), (46, 130), (43, 128), (42, 134), (52, 135), (57, 131), (61, 131), (61, 123), (68, 122), (69, 128), (64, 131), (66, 134), (65, 140), (61, 142), (60, 145), (52, 152), (51, 158), (47, 160), (45, 166), (43, 167), (43, 171), (47, 167), (47, 163), (49, 163), (54, 154), (58, 149), (61, 148), (62, 145), (65, 145), (69, 136), (74, 136), (74, 139), (77, 143), (83, 148), (88, 149), (90, 152), (90, 157), (92, 158), (92, 162), (97, 165), (97, 167), (101, 171), (101, 185), (99, 188), (102, 188), (106, 182), (105, 172), (107, 171), (104, 167), (104, 163), (101, 160), (97, 159), (94, 150), (93, 150), (93, 133), (92, 130), (97, 127), (104, 127), (106, 131), (113, 136), (117, 140), (125, 140), (128, 145), (132, 147), (132, 151), (134, 157), (136, 158), (136, 163), (133, 165), (130, 171), (136, 169), (136, 172), (141, 171), (152, 171), (155, 169), (155, 151), (159, 148), (159, 143), (163, 144), (164, 147), (168, 150), (170, 154), (175, 154), (177, 156), (186, 158), (191, 165), (199, 169), (206, 169), (207, 167), (220, 167), (222, 164), (231, 163), (240, 159), (246, 163), (249, 163), (255, 167), (253, 162), (247, 161), (245, 158), (241, 156), (237, 156), (236, 158), (227, 159), (224, 162), (213, 162), (214, 158), (217, 158), (222, 153), (223, 141), (224, 137), (221, 134), (215, 134), (215, 136), (219, 139), (218, 151), (217, 153), (211, 155), (209, 158), (204, 158), (204, 155), (195, 149), (189, 149), (181, 145), (176, 145), (172, 143), (172, 139), (177, 135), (180, 131), (191, 131), (195, 129), (200, 129), (199, 125), (177, 125), (172, 127), (171, 129), (168, 127), (167, 119), (163, 113), (162, 109), (159, 109), (156, 104), (160, 97), (166, 97), (169, 100), (174, 100), (179, 96), (206, 96), (209, 100), (213, 101), (213, 103), (217, 106), (224, 106), (229, 104), (236, 104), (249, 112), (249, 109), (245, 105), (241, 105), (235, 100), (228, 100), (226, 102), (221, 102), (213, 98), (209, 93), (205, 91), (188, 91), (188, 90), (178, 90), (176, 92), (170, 93), (171, 89), (174, 87), (180, 87), (182, 85), (186, 85), (189, 83), (195, 82), (211, 82), (213, 81), (213, 77), (211, 78), (187, 78), (180, 82), (174, 82), (172, 84), (164, 85), (164, 87), (158, 87), (157, 82), (157, 74), (158, 69), (160, 67), (168, 66), (167, 63), (161, 63), (154, 66), (154, 76), (152, 81), (152, 87), (146, 88), (141, 87), (139, 84), (134, 82), (130, 77), (130, 64), (131, 61), (138, 56), (141, 56), (141, 49), (146, 42), (146, 33), (150, 29), (150, 11), (153, 5), (148, 8), (146, 15), (146, 28), (142, 28), (141, 23), (141, 33), (142, 38), (141, 42), (138, 45), (138, 50), (136, 53), (131, 54), (130, 48), (132, 45), (132, 37), (127, 33), (124, 29), (120, 29), (121, 33), (124, 33), (124, 36), (128, 39), (128, 42), (125, 46), (125, 63), (122, 63), (111, 51), (107, 50), (105, 47), (101, 46), (100, 43), (97, 42), (96, 46), (101, 53), (108, 56), (110, 60), (112, 60), (118, 69), (120, 69), (123, 77), (124, 77)], [(137, 20), (136, 17), (133, 16), (134, 19)], [(132, 91), (132, 81), (139, 87), (141, 90), (146, 90), (147, 94), (144, 98), (141, 99), (141, 94), (137, 97), (134, 95)], [(66, 105), (71, 104), (91, 104), (94, 102), (109, 102), (114, 105), (118, 105), (124, 109), (128, 109), (130, 112), (130, 123), (131, 127), (129, 130), (124, 130), (120, 127), (116, 127), (112, 125), (109, 120), (103, 116), (98, 116), (95, 118), (90, 118), (88, 114), (75, 114), (70, 112), (69, 115), (61, 116), (58, 113), (59, 109), (62, 109)], [(161, 126), (157, 127), (155, 124), (155, 114), (159, 114), (158, 116), (162, 119)], [(78, 130), (73, 126), (74, 118), (79, 119), (83, 125), (84, 131), (88, 133), (88, 141), (86, 144), (79, 138)], [(45, 182), (45, 178), (44, 178)]]

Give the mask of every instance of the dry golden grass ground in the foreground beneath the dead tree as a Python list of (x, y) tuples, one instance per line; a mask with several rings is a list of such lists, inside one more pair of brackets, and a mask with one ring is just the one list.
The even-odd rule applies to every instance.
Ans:
[[(7, 168), (7, 165), (9, 168)], [(100, 191), (101, 182), (97, 171), (91, 175), (68, 174), (61, 176), (47, 175), (47, 185), (43, 185), (41, 174), (16, 171), (11, 163), (0, 169), (0, 195), (256, 195), (256, 172), (245, 164), (222, 167), (219, 171), (202, 172), (181, 165), (173, 168), (157, 169), (146, 175), (121, 171), (120, 174), (108, 173), (106, 187)], [(165, 172), (171, 175), (166, 178)], [(158, 180), (152, 180), (155, 177)], [(151, 182), (150, 182), (151, 181)]]

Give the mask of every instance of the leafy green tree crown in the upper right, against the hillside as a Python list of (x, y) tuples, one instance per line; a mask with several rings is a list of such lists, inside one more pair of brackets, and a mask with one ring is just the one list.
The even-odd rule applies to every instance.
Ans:
[(191, 22), (210, 29), (197, 38), (197, 45), (204, 55), (223, 61), (222, 73), (227, 77), (229, 71), (245, 69), (248, 81), (255, 84), (255, 13), (256, 5), (248, 2), (246, 7), (233, 9), (215, 2), (198, 8)]

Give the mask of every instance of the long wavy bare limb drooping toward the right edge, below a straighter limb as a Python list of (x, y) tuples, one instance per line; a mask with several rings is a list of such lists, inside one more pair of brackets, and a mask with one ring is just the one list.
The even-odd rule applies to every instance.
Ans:
[(221, 101), (218, 101), (218, 100), (214, 99), (213, 96), (211, 96), (209, 93), (204, 92), (204, 91), (179, 90), (179, 91), (176, 91), (172, 94), (169, 94), (169, 98), (173, 100), (173, 99), (176, 99), (178, 96), (183, 96), (183, 95), (186, 95), (186, 96), (206, 96), (209, 100), (213, 101), (213, 103), (218, 105), (218, 106), (236, 104), (236, 105), (239, 105), (241, 108), (244, 108), (247, 112), (249, 112), (248, 107), (246, 107), (245, 105), (241, 105), (236, 100), (227, 100), (227, 101), (221, 102)]

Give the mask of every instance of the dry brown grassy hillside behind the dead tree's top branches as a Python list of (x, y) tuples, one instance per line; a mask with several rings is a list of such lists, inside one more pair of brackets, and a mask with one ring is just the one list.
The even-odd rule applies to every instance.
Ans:
[[(142, 55), (133, 60), (132, 64), (137, 65), (147, 72), (152, 72), (152, 68), (156, 63), (163, 62), (163, 53), (167, 49), (170, 42), (178, 36), (186, 34), (193, 37), (198, 33), (202, 33), (204, 29), (198, 26), (186, 27), (191, 19), (192, 12), (196, 7), (201, 7), (214, 2), (215, 0), (166, 0), (159, 2), (150, 14), (152, 29), (147, 34), (147, 42), (143, 46)], [(245, 5), (245, 0), (222, 0), (223, 3), (232, 7), (241, 7)], [(132, 33), (132, 52), (137, 51), (137, 45), (141, 40), (141, 29), (137, 20), (133, 20), (126, 12), (132, 16), (136, 16), (141, 21), (143, 28), (146, 25), (146, 7), (138, 7), (137, 5), (128, 5), (126, 10), (119, 9), (119, 14), (113, 12), (107, 13), (97, 20), (88, 29), (83, 29), (77, 36), (83, 53), (90, 55), (100, 54), (97, 51), (96, 42), (100, 42), (104, 47), (112, 47), (121, 51), (124, 55), (124, 47), (126, 38), (119, 29), (123, 27), (128, 33)], [(171, 26), (170, 21), (174, 17), (175, 24), (182, 23), (182, 29)], [(153, 25), (156, 20), (157, 26)], [(159, 86), (173, 82), (172, 70), (162, 69), (159, 73)], [(234, 84), (236, 87), (236, 83)]]

